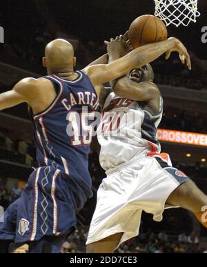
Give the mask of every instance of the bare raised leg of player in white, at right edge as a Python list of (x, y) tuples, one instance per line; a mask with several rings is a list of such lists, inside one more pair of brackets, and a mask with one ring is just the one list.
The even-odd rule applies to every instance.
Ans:
[(201, 224), (207, 228), (206, 220), (201, 219), (206, 212), (206, 209), (202, 211), (202, 207), (207, 206), (207, 196), (199, 190), (193, 181), (186, 181), (186, 183), (176, 188), (168, 197), (166, 203), (192, 211)]

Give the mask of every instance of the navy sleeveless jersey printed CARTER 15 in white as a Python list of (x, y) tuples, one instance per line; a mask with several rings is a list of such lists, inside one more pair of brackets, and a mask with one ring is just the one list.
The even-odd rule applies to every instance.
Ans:
[(44, 78), (57, 88), (57, 97), (43, 112), (34, 115), (34, 141), (39, 166), (52, 166), (69, 175), (90, 197), (88, 154), (99, 99), (90, 79), (81, 71), (75, 81), (56, 75)]

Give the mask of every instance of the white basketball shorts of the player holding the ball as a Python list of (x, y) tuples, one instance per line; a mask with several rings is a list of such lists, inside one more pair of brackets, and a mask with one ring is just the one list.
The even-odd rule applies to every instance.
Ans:
[(97, 206), (92, 217), (88, 239), (90, 244), (115, 233), (123, 233), (119, 245), (139, 234), (141, 212), (162, 220), (166, 199), (180, 184), (190, 179), (172, 168), (169, 155), (151, 154), (138, 161), (121, 164), (106, 172), (97, 192)]

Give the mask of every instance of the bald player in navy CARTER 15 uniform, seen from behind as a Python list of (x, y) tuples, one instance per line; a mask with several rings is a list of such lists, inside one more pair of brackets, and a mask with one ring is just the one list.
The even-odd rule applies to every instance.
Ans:
[[(114, 49), (112, 42), (108, 45), (109, 55)], [(121, 77), (168, 50), (179, 52), (190, 68), (186, 48), (171, 38), (137, 48), (108, 65), (75, 71), (72, 45), (57, 39), (46, 46), (46, 77), (23, 79), (0, 95), (0, 110), (23, 102), (30, 106), (39, 162), (21, 198), (5, 212), (1, 240), (18, 246), (28, 243), (30, 253), (59, 252), (75, 229), (77, 212), (92, 197), (88, 172), (90, 123), (95, 120), (102, 83)]]

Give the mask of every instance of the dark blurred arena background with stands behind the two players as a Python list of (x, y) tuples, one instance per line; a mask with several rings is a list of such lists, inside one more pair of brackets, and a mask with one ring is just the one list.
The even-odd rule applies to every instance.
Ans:
[[(164, 96), (164, 117), (160, 128), (207, 134), (207, 43), (202, 43), (201, 29), (207, 27), (207, 3), (198, 0), (201, 17), (188, 27), (168, 27), (169, 36), (178, 37), (192, 58), (191, 72), (177, 55), (152, 63), (155, 83)], [(43, 48), (57, 37), (75, 46), (77, 67), (103, 55), (104, 40), (124, 33), (133, 19), (153, 14), (152, 0), (8, 0), (1, 3), (0, 26), (4, 43), (0, 43), (0, 92), (10, 90), (23, 77), (40, 77)], [(207, 40), (206, 40), (207, 41)], [(195, 135), (196, 136), (196, 135)], [(162, 150), (170, 153), (173, 164), (193, 178), (207, 193), (207, 155), (204, 142), (198, 145), (161, 141)], [(191, 138), (191, 137), (190, 137)], [(202, 137), (203, 139), (205, 137)], [(202, 140), (203, 140), (202, 139)], [(190, 139), (191, 140), (191, 139)], [(207, 143), (207, 142), (206, 142)], [(26, 184), (35, 166), (32, 127), (26, 105), (0, 112), (0, 205), (6, 208)], [(90, 172), (95, 196), (78, 215), (79, 228), (63, 253), (85, 251), (88, 225), (96, 203), (97, 188), (104, 177), (96, 152), (90, 154)], [(16, 184), (16, 186), (14, 186)], [(189, 196), (190, 197), (190, 196)], [(164, 213), (155, 223), (143, 215), (139, 237), (121, 246), (119, 253), (207, 253), (207, 230), (182, 209)]]

